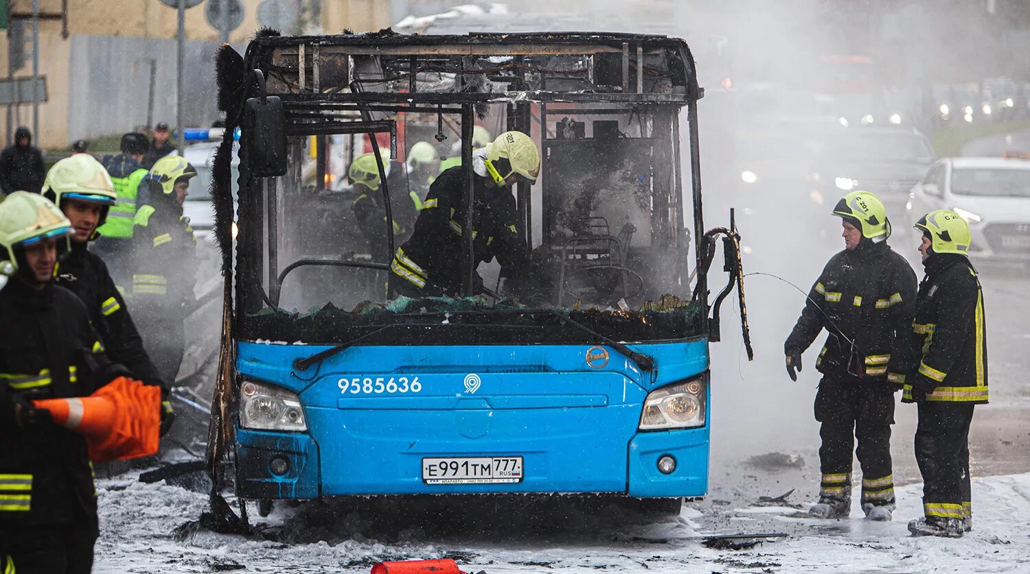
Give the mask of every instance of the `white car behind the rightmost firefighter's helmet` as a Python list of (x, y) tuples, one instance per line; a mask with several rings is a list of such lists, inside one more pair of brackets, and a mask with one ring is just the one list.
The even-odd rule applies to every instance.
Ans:
[(1001, 157), (936, 162), (908, 195), (906, 226), (937, 209), (953, 210), (969, 223), (971, 257), (1030, 260), (1030, 162)]

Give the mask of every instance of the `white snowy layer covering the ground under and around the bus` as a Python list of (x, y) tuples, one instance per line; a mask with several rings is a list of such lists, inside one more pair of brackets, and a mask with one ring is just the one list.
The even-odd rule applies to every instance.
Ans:
[[(380, 560), (442, 557), (488, 574), (1030, 572), (1030, 473), (974, 480), (974, 530), (959, 540), (908, 535), (907, 521), (922, 514), (921, 485), (898, 489), (893, 523), (859, 518), (857, 501), (853, 517), (845, 521), (793, 518), (796, 509), (786, 506), (706, 503), (687, 505), (677, 517), (621, 527), (618, 512), (585, 515), (568, 508), (543, 524), (525, 522), (518, 512), (486, 524), (448, 513), (431, 512), (425, 521), (407, 510), (311, 502), (252, 517), (273, 540), (205, 531), (176, 539), (172, 531), (206, 509), (205, 495), (127, 477), (101, 480), (98, 488), (96, 573), (356, 573)], [(710, 549), (699, 540), (732, 532), (788, 536), (746, 550)]]

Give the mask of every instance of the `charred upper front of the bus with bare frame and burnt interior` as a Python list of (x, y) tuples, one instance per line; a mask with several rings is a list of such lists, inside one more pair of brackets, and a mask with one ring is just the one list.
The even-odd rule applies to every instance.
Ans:
[[(283, 156), (254, 141), (243, 120), (241, 337), (543, 344), (708, 334), (703, 234), (695, 248), (703, 229), (693, 120), (700, 91), (681, 40), (267, 36), (244, 64), (253, 78), (247, 95), (259, 102), (249, 121), (267, 121), (262, 106), (275, 100), (270, 117), (280, 122)], [(462, 237), (467, 277), (457, 296), (396, 297), (387, 291), (390, 258), (418, 216), (412, 204), (426, 193), (405, 169), (407, 151), (419, 139), (441, 155), (459, 149), (471, 206), (475, 125), (493, 136), (521, 131), (541, 151), (536, 184), (505, 190), (515, 198), (518, 247), (539, 287), (519, 289)], [(355, 190), (347, 166), (368, 152), (381, 185)], [(374, 226), (355, 217), (355, 202), (370, 199), (382, 210)], [(451, 223), (471, 228), (468, 217)]]

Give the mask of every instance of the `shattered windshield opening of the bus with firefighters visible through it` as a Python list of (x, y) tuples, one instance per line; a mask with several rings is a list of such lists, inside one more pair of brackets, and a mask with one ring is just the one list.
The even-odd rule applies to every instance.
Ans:
[[(477, 118), (474, 145), (501, 135), (504, 111)], [(248, 324), (289, 340), (396, 323), (536, 327), (524, 336), (549, 340), (558, 335), (548, 328), (564, 325), (552, 315), (561, 310), (618, 339), (698, 333), (690, 231), (674, 190), (675, 116), (568, 105), (544, 113), (546, 131), (536, 123), (525, 134), (542, 156), (535, 183), (506, 181), (510, 163), (474, 149), (471, 252), (459, 117), (439, 132), (433, 115), (394, 114), (407, 135), (396, 153), (388, 134), (291, 137), (289, 172), (262, 180), (253, 206), (261, 252), (243, 264), (261, 290), (248, 297)]]

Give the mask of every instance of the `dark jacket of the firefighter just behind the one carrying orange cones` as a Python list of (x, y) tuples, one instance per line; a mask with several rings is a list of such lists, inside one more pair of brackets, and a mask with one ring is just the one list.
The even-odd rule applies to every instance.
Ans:
[(167, 392), (168, 386), (143, 349), (143, 339), (104, 260), (91, 253), (87, 244), (72, 242), (71, 253), (58, 263), (56, 274), (57, 284), (85, 303), (90, 323), (100, 335), (108, 358), (131, 370), (133, 379)]

